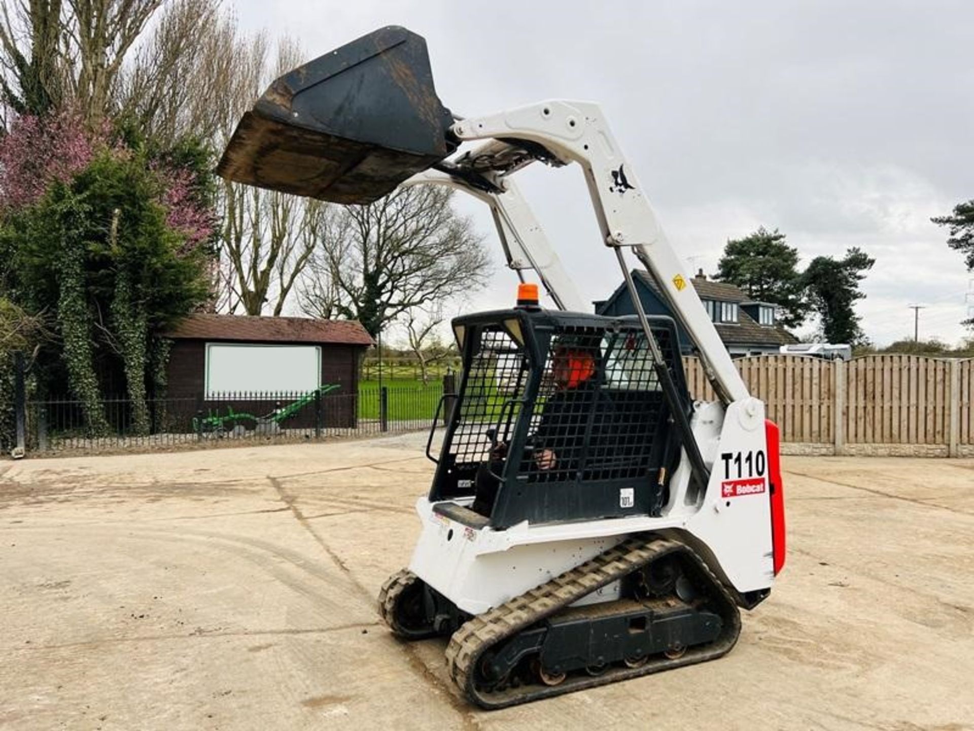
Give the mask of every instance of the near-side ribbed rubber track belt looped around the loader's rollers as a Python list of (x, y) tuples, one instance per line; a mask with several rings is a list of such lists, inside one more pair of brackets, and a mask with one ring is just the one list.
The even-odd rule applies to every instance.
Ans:
[[(501, 691), (482, 691), (476, 687), (476, 673), (473, 670), (488, 649), (578, 601), (582, 596), (672, 553), (691, 558), (702, 573), (710, 578), (710, 591), (715, 600), (723, 604), (718, 613), (724, 620), (724, 628), (716, 640), (688, 648), (687, 653), (676, 660), (660, 655), (641, 668), (612, 666), (601, 675), (593, 677), (577, 674), (555, 686), (539, 683)], [(740, 612), (733, 598), (690, 547), (661, 538), (632, 537), (546, 584), (471, 618), (450, 637), (446, 648), (446, 663), (450, 676), (472, 703), (484, 709), (501, 709), (617, 680), (714, 660), (731, 650), (738, 635)]]

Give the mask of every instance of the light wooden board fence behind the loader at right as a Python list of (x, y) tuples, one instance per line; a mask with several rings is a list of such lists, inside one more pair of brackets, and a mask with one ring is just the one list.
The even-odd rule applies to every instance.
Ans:
[[(783, 442), (836, 454), (974, 455), (974, 360), (755, 356), (734, 363)], [(684, 367), (693, 398), (714, 399), (699, 360), (686, 357)]]

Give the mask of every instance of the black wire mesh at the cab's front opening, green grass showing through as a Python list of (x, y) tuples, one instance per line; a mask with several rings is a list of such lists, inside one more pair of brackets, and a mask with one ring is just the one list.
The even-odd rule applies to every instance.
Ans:
[[(521, 411), (529, 368), (520, 345), (502, 327), (480, 331), (468, 366), (460, 416), (450, 442), (457, 465), (488, 459), (495, 443), (505, 443)], [(489, 430), (497, 430), (488, 434)]]

